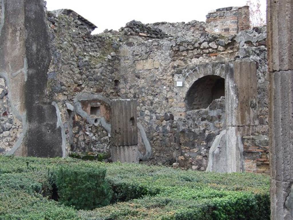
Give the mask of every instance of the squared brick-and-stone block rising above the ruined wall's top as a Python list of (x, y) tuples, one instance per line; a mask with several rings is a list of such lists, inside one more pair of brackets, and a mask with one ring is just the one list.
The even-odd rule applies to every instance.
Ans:
[(207, 31), (229, 36), (248, 30), (249, 6), (227, 7), (207, 14)]

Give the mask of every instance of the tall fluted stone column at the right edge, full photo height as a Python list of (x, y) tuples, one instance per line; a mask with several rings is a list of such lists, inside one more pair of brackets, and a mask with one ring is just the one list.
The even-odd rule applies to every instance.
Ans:
[(293, 1), (267, 0), (271, 219), (293, 219)]

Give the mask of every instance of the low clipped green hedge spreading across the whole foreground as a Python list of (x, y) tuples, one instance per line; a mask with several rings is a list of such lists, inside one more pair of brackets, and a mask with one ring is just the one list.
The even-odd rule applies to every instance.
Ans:
[[(61, 197), (59, 202), (50, 199), (52, 173), (59, 193), (65, 192), (65, 202)], [(99, 193), (84, 196), (93, 185), (99, 185), (88, 183), (95, 182), (97, 176), (105, 177), (113, 190), (112, 204), (92, 211), (77, 210), (81, 207), (76, 203), (76, 208), (68, 206), (66, 201), (74, 201), (69, 198), (78, 193), (78, 204), (100, 198)], [(0, 220), (265, 220), (270, 219), (269, 187), (268, 176), (252, 173), (217, 174), (72, 158), (0, 156)], [(104, 192), (106, 195), (108, 190)]]

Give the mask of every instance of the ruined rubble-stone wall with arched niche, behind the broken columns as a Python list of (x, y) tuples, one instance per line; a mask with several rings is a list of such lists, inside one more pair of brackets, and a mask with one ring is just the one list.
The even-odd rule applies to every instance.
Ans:
[[(233, 69), (234, 61), (252, 61), (258, 93), (249, 108), (255, 121), (251, 129), (239, 131), (244, 146), (241, 163), (243, 170), (267, 172), (267, 167), (259, 168), (259, 159), (268, 154), (255, 150), (265, 148), (266, 142), (247, 141), (268, 135), (265, 29), (226, 38), (205, 31), (203, 22), (131, 21), (119, 32), (91, 35), (84, 18), (67, 12), (47, 12), (52, 59), (45, 87), (46, 102), (59, 111), (66, 155), (109, 153), (111, 100), (137, 99), (139, 150), (146, 155), (147, 143), (151, 148), (151, 158), (142, 156), (145, 163), (206, 170), (210, 148), (227, 125), (226, 87), (234, 79), (227, 77), (225, 68)], [(209, 96), (193, 90), (196, 83)], [(1, 99), (0, 106), (4, 102)], [(3, 114), (9, 107), (1, 108)], [(11, 141), (13, 133), (7, 134), (10, 139), (1, 141), (15, 145), (17, 138)], [(3, 146), (4, 153), (11, 149)]]

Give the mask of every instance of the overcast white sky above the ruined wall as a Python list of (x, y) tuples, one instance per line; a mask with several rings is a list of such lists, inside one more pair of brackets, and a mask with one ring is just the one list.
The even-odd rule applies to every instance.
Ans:
[[(266, 0), (260, 2), (265, 15)], [(72, 9), (94, 23), (98, 26), (94, 33), (106, 28), (118, 30), (131, 20), (142, 23), (205, 21), (211, 10), (243, 5), (246, 0), (47, 0), (49, 11)]]

